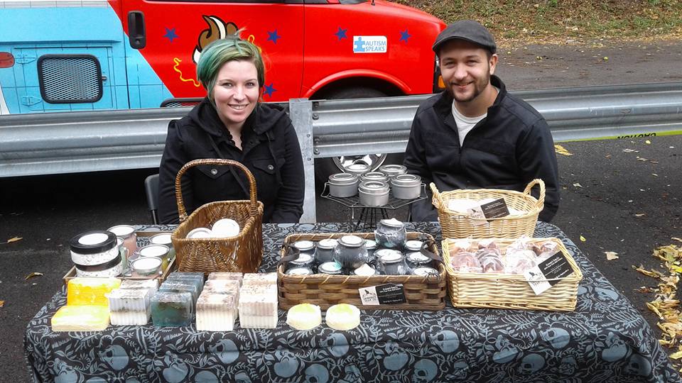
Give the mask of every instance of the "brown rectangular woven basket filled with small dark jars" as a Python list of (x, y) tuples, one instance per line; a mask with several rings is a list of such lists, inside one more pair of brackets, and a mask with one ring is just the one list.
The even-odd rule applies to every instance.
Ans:
[[(292, 234), (284, 240), (286, 245), (297, 240), (323, 240), (325, 238), (341, 238), (346, 233), (335, 234)], [(374, 239), (374, 233), (354, 233), (361, 238)], [(408, 233), (408, 239), (421, 238), (422, 233)], [(429, 250), (438, 255), (431, 235)], [(282, 248), (282, 256), (286, 255), (286, 245)], [(277, 267), (279, 308), (289, 309), (296, 304), (316, 304), (322, 309), (340, 303), (353, 304), (363, 310), (423, 310), (438, 311), (445, 307), (445, 267), (438, 266), (440, 274), (421, 277), (417, 275), (374, 275), (360, 277), (357, 275), (313, 274), (308, 276), (284, 274), (284, 265)], [(372, 287), (378, 284), (402, 284), (406, 303), (381, 306), (363, 306), (357, 289)]]

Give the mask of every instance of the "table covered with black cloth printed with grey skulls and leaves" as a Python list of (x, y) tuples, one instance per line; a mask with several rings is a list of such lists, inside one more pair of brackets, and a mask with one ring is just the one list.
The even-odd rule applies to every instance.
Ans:
[[(440, 241), (437, 223), (408, 225)], [(288, 234), (352, 226), (264, 225), (260, 271), (275, 270)], [(561, 238), (580, 265), (575, 312), (448, 304), (435, 312), (362, 311), (352, 331), (324, 323), (296, 331), (280, 311), (271, 330), (149, 324), (55, 333), (50, 318), (65, 304), (62, 289), (28, 323), (26, 358), (35, 379), (45, 382), (679, 382), (644, 318), (575, 244), (548, 223), (538, 223), (535, 236)]]

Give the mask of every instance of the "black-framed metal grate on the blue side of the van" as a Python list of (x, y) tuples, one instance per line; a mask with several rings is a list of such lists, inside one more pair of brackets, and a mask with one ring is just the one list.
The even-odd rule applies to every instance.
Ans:
[(102, 99), (102, 69), (93, 55), (42, 55), (38, 58), (40, 95), (50, 104)]

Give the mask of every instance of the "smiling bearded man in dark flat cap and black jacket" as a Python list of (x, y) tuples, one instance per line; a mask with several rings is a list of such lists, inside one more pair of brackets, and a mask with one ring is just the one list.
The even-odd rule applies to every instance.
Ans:
[[(494, 76), (497, 46), (490, 32), (476, 21), (458, 21), (438, 35), (433, 51), (445, 91), (417, 109), (405, 152), (408, 173), (440, 191), (524, 191), (542, 179), (539, 219), (551, 221), (559, 205), (552, 135), (540, 113)], [(411, 214), (413, 221), (438, 219), (430, 198), (412, 204)]]

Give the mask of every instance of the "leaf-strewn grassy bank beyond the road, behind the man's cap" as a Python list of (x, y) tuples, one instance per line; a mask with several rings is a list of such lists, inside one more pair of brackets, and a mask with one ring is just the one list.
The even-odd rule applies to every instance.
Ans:
[(470, 18), (499, 43), (682, 38), (682, 0), (394, 0), (445, 23)]

